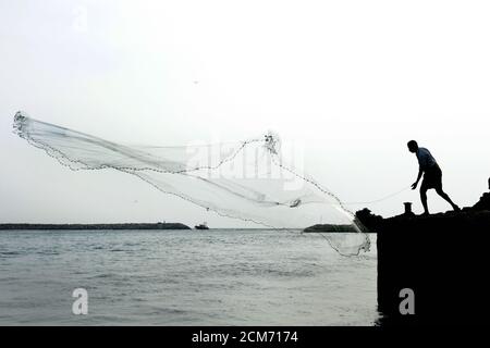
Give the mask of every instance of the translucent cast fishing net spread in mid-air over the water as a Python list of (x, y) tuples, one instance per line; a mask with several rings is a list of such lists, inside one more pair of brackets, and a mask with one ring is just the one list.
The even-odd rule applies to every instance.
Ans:
[(40, 122), (17, 112), (14, 132), (73, 171), (117, 170), (221, 216), (303, 231), (328, 224), (351, 233), (322, 236), (342, 254), (369, 249), (369, 238), (341, 200), (287, 163), (273, 133), (237, 142), (131, 146)]

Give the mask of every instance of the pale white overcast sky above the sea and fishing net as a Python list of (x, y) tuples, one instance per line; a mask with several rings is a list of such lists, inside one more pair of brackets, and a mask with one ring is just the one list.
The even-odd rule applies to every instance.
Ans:
[[(344, 202), (436, 157), (462, 207), (490, 176), (487, 1), (0, 0), (0, 222), (232, 226), (115, 171), (72, 172), (12, 133), (17, 110), (109, 140), (185, 145), (273, 129)], [(404, 190), (364, 207), (390, 216)], [(431, 212), (450, 206), (429, 191)]]

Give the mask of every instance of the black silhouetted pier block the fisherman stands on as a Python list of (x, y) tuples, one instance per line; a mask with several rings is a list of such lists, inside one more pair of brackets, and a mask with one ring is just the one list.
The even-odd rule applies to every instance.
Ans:
[[(489, 323), (490, 211), (401, 215), (376, 229), (380, 324)], [(400, 310), (403, 289), (414, 314)]]

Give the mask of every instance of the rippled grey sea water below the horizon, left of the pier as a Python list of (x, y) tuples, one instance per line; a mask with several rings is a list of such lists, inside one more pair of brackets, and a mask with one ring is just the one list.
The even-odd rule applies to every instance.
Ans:
[(1, 231), (0, 325), (373, 325), (370, 238), (343, 257), (268, 229)]

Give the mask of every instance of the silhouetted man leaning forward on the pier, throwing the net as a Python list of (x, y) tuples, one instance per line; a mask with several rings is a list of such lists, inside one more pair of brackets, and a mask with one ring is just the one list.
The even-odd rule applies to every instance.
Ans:
[(442, 171), (432, 154), (430, 154), (429, 150), (426, 148), (419, 148), (417, 141), (415, 140), (408, 141), (407, 146), (408, 150), (417, 156), (419, 165), (417, 181), (412, 185), (412, 189), (417, 188), (418, 182), (424, 174), (424, 181), (420, 185), (420, 200), (424, 206), (424, 214), (429, 214), (429, 209), (427, 208), (427, 190), (429, 188), (434, 188), (436, 192), (444, 198), (444, 200), (446, 200), (455, 211), (460, 211), (460, 207), (457, 207), (442, 190)]

